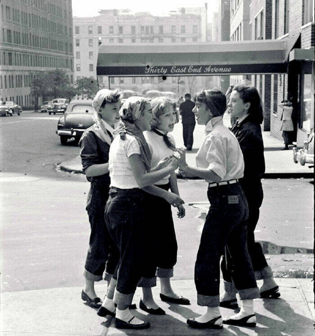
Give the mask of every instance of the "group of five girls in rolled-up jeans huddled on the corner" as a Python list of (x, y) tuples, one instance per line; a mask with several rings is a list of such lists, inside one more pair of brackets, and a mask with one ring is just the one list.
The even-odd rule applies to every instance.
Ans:
[[(102, 89), (92, 102), (95, 123), (80, 140), (83, 170), (91, 182), (86, 207), (91, 234), (81, 297), (98, 308), (99, 316), (115, 317), (118, 329), (150, 327), (132, 313), (137, 308), (132, 304), (137, 287), (142, 288), (140, 309), (166, 313), (152, 296), (156, 277), (162, 301), (190, 304), (174, 292), (170, 281), (177, 261), (172, 206), (179, 218), (185, 216), (177, 168), (186, 177), (209, 183), (210, 208), (194, 270), (197, 304), (207, 310), (187, 324), (198, 329), (222, 329), (223, 324), (255, 327), (253, 300), (280, 296), (254, 237), (265, 171), (259, 94), (239, 85), (231, 90), (228, 106), (219, 90), (202, 90), (194, 100), (196, 121), (205, 125), (196, 166), (189, 166), (185, 150), (176, 148), (171, 132), (178, 118), (168, 98), (134, 96), (122, 104), (118, 90)], [(222, 121), (227, 109), (237, 118), (231, 130)], [(103, 278), (108, 286), (102, 301), (94, 282)], [(256, 279), (263, 279), (260, 289)], [(220, 306), (237, 309), (237, 293), (239, 312), (223, 320)]]

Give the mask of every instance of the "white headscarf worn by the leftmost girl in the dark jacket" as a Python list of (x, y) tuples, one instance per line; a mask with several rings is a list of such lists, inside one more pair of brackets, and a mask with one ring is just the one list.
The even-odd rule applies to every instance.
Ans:
[[(107, 142), (109, 145), (111, 144), (111, 137), (109, 136), (107, 130), (113, 134), (114, 130), (109, 127), (107, 123), (104, 122), (104, 120), (101, 118), (99, 114), (99, 109), (102, 106), (102, 103), (104, 99), (108, 97), (109, 94), (113, 93), (113, 91), (108, 90), (108, 89), (102, 89), (99, 90), (93, 101), (92, 101), (92, 106), (94, 108), (94, 115), (93, 115), (93, 120), (94, 120), (94, 125), (92, 127), (92, 131), (104, 142)], [(114, 135), (113, 135), (114, 136)]]

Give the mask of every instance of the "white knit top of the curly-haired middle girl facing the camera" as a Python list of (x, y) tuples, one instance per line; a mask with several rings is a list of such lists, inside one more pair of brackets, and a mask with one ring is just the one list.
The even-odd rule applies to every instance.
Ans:
[[(153, 131), (144, 131), (143, 135), (149, 145), (150, 152), (152, 154), (151, 167), (155, 167), (162, 159), (167, 156), (173, 155), (174, 151), (168, 148), (165, 141), (163, 140), (163, 136), (156, 134)], [(168, 134), (171, 141), (175, 145), (175, 140), (173, 135)], [(165, 176), (162, 180), (154, 183), (156, 185), (167, 184), (169, 182), (170, 175)]]

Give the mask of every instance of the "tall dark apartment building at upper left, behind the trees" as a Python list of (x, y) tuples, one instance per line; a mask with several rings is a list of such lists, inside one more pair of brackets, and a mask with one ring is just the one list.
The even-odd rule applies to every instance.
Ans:
[(73, 82), (72, 0), (2, 0), (0, 99), (24, 108), (33, 78), (55, 68)]

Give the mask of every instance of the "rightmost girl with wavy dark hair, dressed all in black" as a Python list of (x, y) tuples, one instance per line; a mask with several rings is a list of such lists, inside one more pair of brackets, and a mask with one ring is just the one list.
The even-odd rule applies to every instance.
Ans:
[[(254, 231), (259, 219), (259, 208), (263, 201), (261, 177), (265, 172), (264, 143), (261, 132), (263, 108), (259, 93), (255, 87), (235, 85), (228, 103), (229, 113), (237, 118), (231, 131), (235, 134), (244, 157), (244, 177), (240, 183), (249, 206), (249, 217), (245, 221), (247, 227), (247, 246), (256, 280), (263, 280), (260, 297), (277, 298), (279, 287), (273, 279), (270, 266), (262, 251), (255, 242)], [(226, 308), (237, 308), (236, 289), (231, 278), (231, 269), (223, 258), (221, 269), (225, 292), (220, 305)]]

